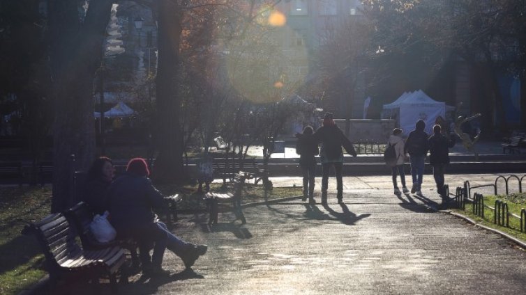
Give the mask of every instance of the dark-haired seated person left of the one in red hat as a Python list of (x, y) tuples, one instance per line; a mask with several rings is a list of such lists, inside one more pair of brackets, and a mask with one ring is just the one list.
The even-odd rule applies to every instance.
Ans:
[(88, 170), (82, 191), (82, 201), (85, 202), (94, 214), (103, 215), (107, 210), (105, 192), (115, 176), (112, 159), (99, 157)]

